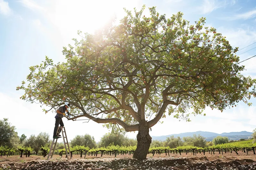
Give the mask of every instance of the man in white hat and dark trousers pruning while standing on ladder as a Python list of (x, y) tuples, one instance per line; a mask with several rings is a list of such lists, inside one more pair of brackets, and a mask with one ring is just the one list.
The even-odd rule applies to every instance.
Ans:
[(67, 114), (69, 114), (69, 109), (70, 109), (70, 104), (68, 102), (65, 102), (64, 105), (61, 105), (58, 110), (57, 110), (57, 114), (55, 116), (55, 127), (54, 127), (54, 131), (53, 131), (53, 139), (58, 139), (60, 138), (60, 135), (59, 136), (56, 136), (57, 135), (57, 129), (60, 126), (64, 126), (63, 122), (62, 122), (62, 117), (65, 116), (65, 112), (67, 112)]

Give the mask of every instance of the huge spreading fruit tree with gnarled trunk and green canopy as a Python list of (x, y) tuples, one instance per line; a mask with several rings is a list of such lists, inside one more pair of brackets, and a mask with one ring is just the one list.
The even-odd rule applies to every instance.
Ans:
[(125, 9), (119, 25), (95, 34), (78, 31), (82, 40), (63, 48), (67, 62), (46, 56), (29, 68), (29, 84), (17, 87), (25, 91), (21, 99), (45, 105), (46, 113), (69, 101), (68, 119), (138, 130), (133, 158), (140, 160), (151, 143), (149, 129), (167, 114), (190, 121), (206, 106), (221, 112), (240, 100), (251, 106), (246, 98), (255, 96), (255, 79), (240, 74), (238, 48), (215, 28), (203, 28), (205, 18), (189, 25), (181, 12), (166, 18), (152, 7), (144, 17), (144, 8), (135, 15)]

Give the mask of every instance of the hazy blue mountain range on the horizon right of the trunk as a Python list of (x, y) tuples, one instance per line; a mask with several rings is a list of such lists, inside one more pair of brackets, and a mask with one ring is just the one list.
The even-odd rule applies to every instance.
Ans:
[[(241, 131), (241, 132), (229, 132), (229, 133), (213, 133), (213, 132), (204, 132), (204, 131), (196, 131), (196, 132), (186, 132), (186, 133), (179, 133), (179, 134), (172, 134), (174, 137), (193, 137), (193, 135), (201, 135), (206, 138), (206, 141), (212, 141), (213, 138), (217, 136), (225, 136), (228, 137), (228, 140), (239, 140), (239, 139), (248, 139), (251, 137), (252, 132)], [(152, 136), (152, 140), (166, 140), (167, 137), (172, 135), (165, 135), (165, 136)]]

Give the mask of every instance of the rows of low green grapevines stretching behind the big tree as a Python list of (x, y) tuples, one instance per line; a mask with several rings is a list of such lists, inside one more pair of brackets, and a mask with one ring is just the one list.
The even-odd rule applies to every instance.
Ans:
[[(252, 140), (245, 140), (245, 141), (238, 141), (238, 142), (232, 142), (232, 143), (226, 143), (226, 144), (218, 144), (213, 145), (210, 147), (196, 147), (193, 145), (187, 145), (187, 146), (178, 146), (176, 148), (170, 148), (170, 147), (151, 147), (148, 151), (148, 153), (152, 153), (153, 156), (155, 154), (165, 154), (170, 156), (170, 154), (191, 154), (196, 155), (198, 153), (202, 153), (205, 155), (205, 152), (209, 152), (209, 154), (215, 154), (217, 151), (219, 154), (225, 154), (227, 152), (235, 152), (237, 155), (239, 152), (244, 152), (247, 155), (254, 154), (255, 155), (255, 147), (256, 143), (252, 143)], [(118, 146), (118, 145), (110, 145), (107, 147), (100, 147), (100, 148), (89, 148), (88, 146), (74, 146), (70, 148), (70, 154), (79, 154), (80, 158), (84, 157), (86, 158), (86, 155), (91, 156), (100, 156), (103, 155), (109, 155), (109, 156), (115, 156), (116, 155), (131, 155), (136, 149), (135, 146)], [(50, 148), (48, 146), (41, 147), (42, 156), (46, 157), (46, 155), (49, 153)], [(33, 149), (31, 147), (19, 147), (19, 148), (8, 148), (6, 146), (0, 147), (0, 155), (2, 156), (10, 156), (14, 154), (19, 154), (20, 157), (22, 157), (23, 154), (26, 155), (26, 157), (29, 157), (32, 153)], [(66, 155), (65, 149), (59, 149), (54, 151), (55, 154), (58, 154), (62, 157), (62, 155)], [(83, 156), (84, 154), (84, 156)]]

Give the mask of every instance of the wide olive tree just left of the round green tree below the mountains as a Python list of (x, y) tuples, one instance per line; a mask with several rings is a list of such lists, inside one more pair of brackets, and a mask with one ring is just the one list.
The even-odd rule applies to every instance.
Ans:
[(202, 137), (201, 135), (196, 136), (196, 134), (193, 135), (193, 137), (183, 137), (184, 145), (194, 145), (197, 147), (205, 147), (206, 140), (205, 137)]

